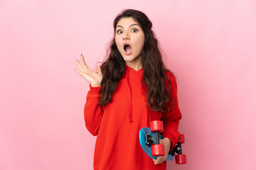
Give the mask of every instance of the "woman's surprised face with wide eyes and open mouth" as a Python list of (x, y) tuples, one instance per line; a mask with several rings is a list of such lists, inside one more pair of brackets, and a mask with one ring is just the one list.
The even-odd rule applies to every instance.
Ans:
[(114, 35), (117, 48), (129, 67), (141, 67), (141, 53), (145, 36), (139, 23), (132, 17), (122, 18)]

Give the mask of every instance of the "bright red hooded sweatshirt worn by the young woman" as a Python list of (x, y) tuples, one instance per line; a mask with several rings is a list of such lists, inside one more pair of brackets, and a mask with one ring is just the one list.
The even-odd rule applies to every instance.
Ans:
[[(166, 75), (171, 81), (171, 97), (175, 106), (174, 110), (164, 113), (146, 108), (146, 96), (142, 94), (142, 69), (135, 71), (126, 66), (125, 76), (119, 81), (112, 102), (103, 110), (97, 103), (100, 99), (100, 86), (90, 86), (84, 113), (87, 130), (97, 135), (95, 170), (166, 169), (166, 162), (154, 165), (139, 143), (139, 130), (149, 127), (151, 120), (164, 121), (163, 137), (168, 137), (172, 146), (178, 140), (181, 111), (178, 108), (177, 84), (173, 74), (168, 72)], [(171, 101), (169, 108), (173, 108)]]

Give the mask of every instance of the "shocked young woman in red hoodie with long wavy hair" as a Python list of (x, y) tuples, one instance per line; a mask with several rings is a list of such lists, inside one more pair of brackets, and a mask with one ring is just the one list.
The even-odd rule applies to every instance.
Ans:
[[(77, 60), (78, 74), (90, 83), (85, 125), (97, 135), (94, 169), (166, 169), (168, 152), (178, 140), (177, 84), (166, 69), (152, 23), (141, 11), (125, 10), (114, 19), (109, 56), (97, 72)], [(139, 130), (152, 120), (164, 122), (165, 156), (152, 160), (139, 144)]]

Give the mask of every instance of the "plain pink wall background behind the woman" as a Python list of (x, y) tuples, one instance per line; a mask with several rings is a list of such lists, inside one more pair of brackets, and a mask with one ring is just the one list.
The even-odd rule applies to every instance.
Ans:
[(75, 60), (103, 60), (124, 8), (149, 16), (178, 78), (188, 164), (167, 169), (256, 169), (255, 0), (0, 0), (0, 169), (92, 169)]

